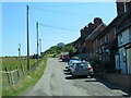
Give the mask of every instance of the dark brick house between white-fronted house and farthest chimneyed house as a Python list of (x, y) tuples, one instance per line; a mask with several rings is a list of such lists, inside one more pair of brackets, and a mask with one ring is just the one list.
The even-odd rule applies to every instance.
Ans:
[(97, 58), (100, 60), (103, 66), (108, 71), (115, 71), (115, 54), (118, 51), (118, 42), (116, 37), (116, 24), (119, 20), (117, 16), (96, 38)]

